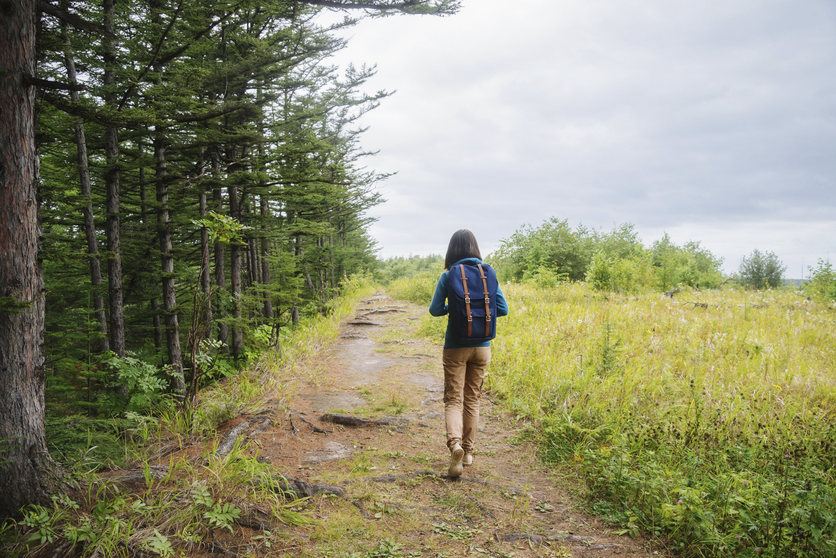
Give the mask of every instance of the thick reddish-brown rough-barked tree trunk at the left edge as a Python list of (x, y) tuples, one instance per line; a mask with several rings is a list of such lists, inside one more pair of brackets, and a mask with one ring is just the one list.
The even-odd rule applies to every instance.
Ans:
[(43, 278), (35, 147), (36, 3), (0, 15), (0, 516), (46, 504), (63, 477), (43, 429)]

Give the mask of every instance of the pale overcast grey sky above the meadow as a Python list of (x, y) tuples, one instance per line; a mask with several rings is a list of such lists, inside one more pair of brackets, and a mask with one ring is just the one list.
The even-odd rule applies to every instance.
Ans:
[[(798, 277), (836, 254), (836, 4), (466, 0), (366, 20), (334, 63), (397, 90), (364, 117), (380, 255), (482, 253), (555, 216), (701, 240)], [(806, 276), (806, 272), (805, 272)]]

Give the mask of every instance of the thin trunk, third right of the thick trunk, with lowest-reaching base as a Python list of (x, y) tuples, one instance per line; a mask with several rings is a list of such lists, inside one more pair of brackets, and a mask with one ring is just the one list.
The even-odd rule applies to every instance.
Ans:
[(166, 138), (162, 130), (156, 131), (154, 156), (156, 159), (156, 191), (160, 209), (157, 221), (160, 225), (160, 253), (162, 256), (162, 303), (166, 310), (166, 348), (171, 366), (171, 391), (178, 397), (186, 397), (186, 381), (183, 377), (183, 361), (180, 350), (180, 323), (177, 320), (177, 296), (174, 287), (174, 256), (171, 254), (171, 217), (168, 211), (168, 184), (166, 176)]

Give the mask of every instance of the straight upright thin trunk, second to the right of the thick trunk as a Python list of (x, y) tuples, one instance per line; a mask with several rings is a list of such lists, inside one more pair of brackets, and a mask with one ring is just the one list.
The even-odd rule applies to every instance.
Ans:
[[(104, 26), (114, 30), (114, 0), (104, 0)], [(115, 42), (104, 41), (104, 102), (113, 104), (115, 94), (110, 90), (114, 82)], [(119, 131), (112, 126), (104, 129), (104, 156), (107, 170), (104, 172), (106, 192), (107, 248), (110, 252), (107, 265), (108, 299), (110, 301), (111, 349), (119, 356), (125, 356), (125, 316), (122, 310), (122, 259), (120, 248), (119, 219)]]

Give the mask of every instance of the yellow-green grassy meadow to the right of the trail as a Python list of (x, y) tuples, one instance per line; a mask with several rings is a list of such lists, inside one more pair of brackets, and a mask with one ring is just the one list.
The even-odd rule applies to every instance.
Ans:
[(502, 289), (486, 386), (594, 511), (684, 555), (836, 555), (833, 310), (791, 291)]

